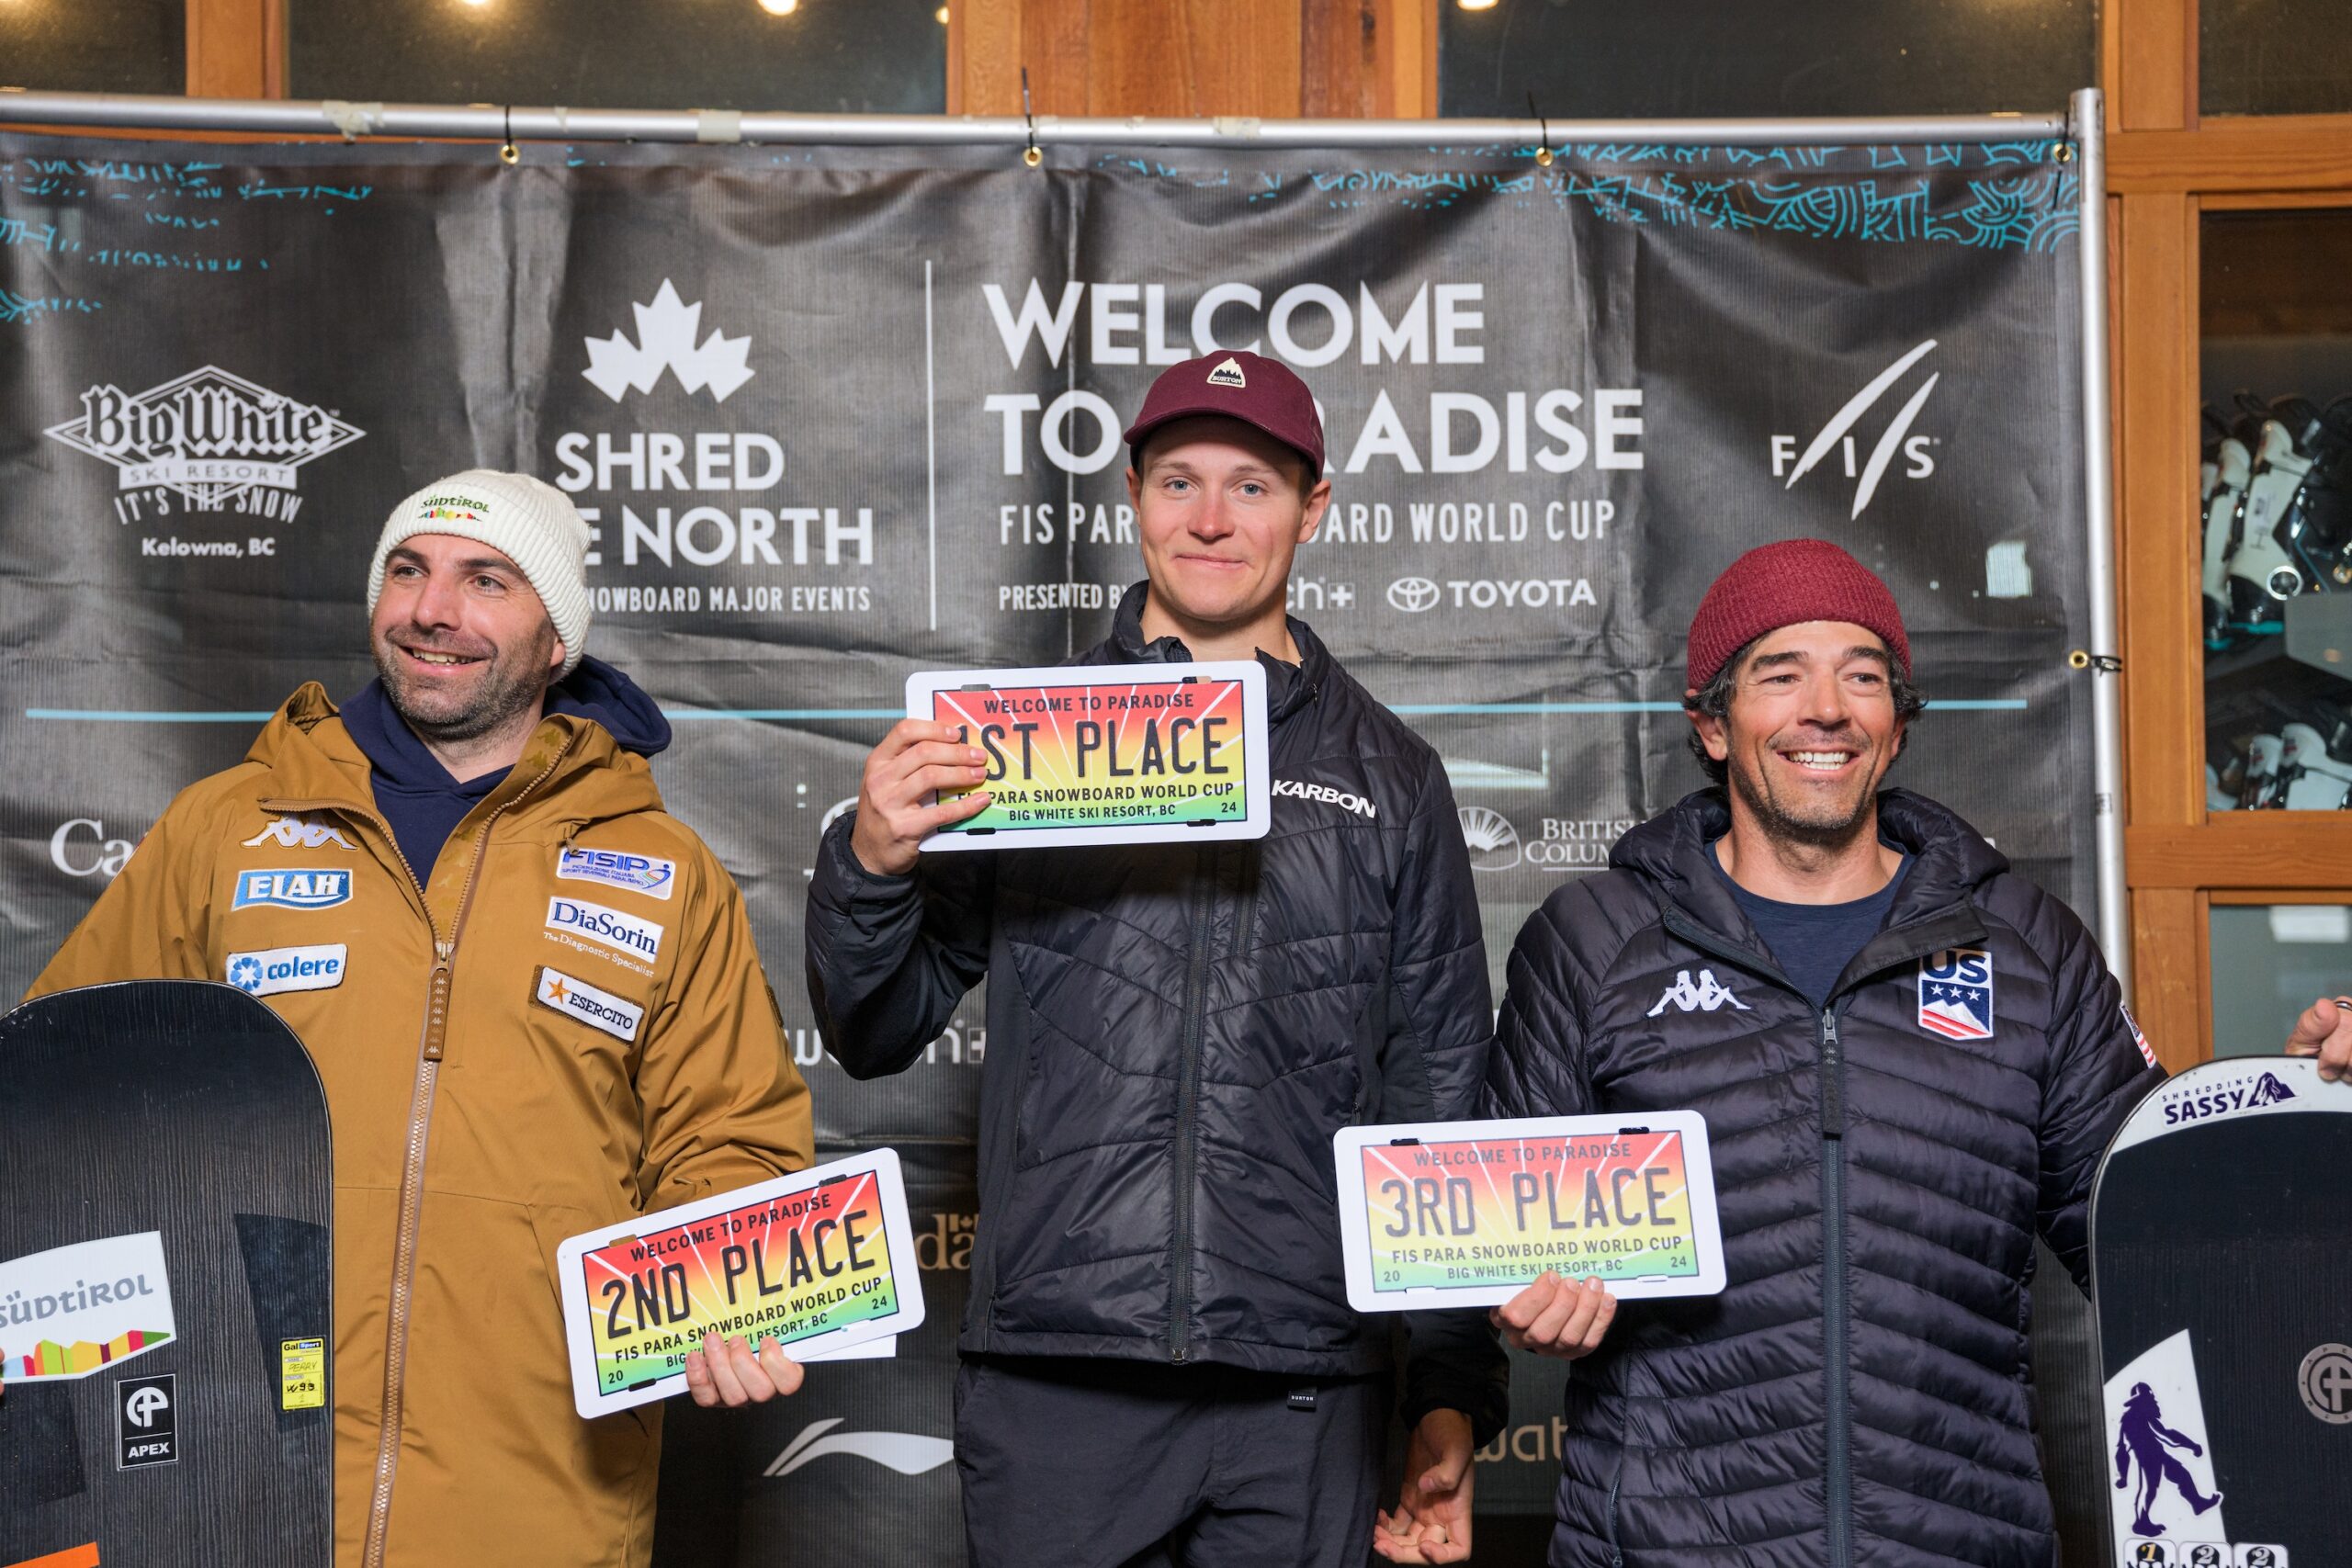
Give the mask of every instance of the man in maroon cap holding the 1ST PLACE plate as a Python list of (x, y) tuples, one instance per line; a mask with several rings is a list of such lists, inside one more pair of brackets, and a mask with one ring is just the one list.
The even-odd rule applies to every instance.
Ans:
[(1284, 614), (1331, 496), (1305, 383), (1190, 360), (1127, 440), (1145, 581), (1075, 663), (1256, 658), (1268, 835), (922, 856), (988, 797), (927, 802), (985, 773), (908, 719), (809, 884), (809, 997), (854, 1077), (917, 1060), (988, 978), (955, 1389), (971, 1559), (1362, 1568), (1402, 1394), (1404, 1554), (1458, 1561), (1501, 1349), (1477, 1314), (1416, 1316), (1395, 1368), (1395, 1324), (1348, 1307), (1331, 1199), (1338, 1128), (1463, 1117), (1484, 1077), (1454, 795)]

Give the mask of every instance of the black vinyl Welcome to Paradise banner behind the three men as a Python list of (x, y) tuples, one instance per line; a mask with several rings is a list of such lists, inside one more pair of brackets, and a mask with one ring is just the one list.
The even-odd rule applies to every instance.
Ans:
[[(1498, 994), (1522, 919), (1700, 785), (1689, 616), (1792, 536), (1903, 604), (1933, 705), (1896, 780), (2093, 914), (2072, 148), (1531, 153), (0, 139), (0, 985), (299, 682), (369, 679), (397, 498), (562, 487), (588, 646), (675, 724), (663, 797), (748, 896), (818, 1140), (910, 1159), (941, 1286), (894, 1361), (673, 1410), (663, 1556), (955, 1561), (983, 999), (849, 1081), (802, 898), (908, 672), (1103, 635), (1162, 367), (1315, 388), (1291, 609), (1442, 752)], [(1522, 1371), (1496, 1519), (1557, 1472), (1559, 1373)]]

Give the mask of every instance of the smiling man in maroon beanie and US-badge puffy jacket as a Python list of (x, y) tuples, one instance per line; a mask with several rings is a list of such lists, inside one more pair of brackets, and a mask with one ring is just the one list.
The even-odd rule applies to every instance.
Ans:
[(1625, 1302), (1576, 1366), (1550, 1561), (2056, 1563), (2034, 1237), (2084, 1281), (2100, 1150), (2164, 1074), (2084, 924), (1882, 788), (1924, 698), (1860, 562), (1743, 555), (1686, 686), (1715, 788), (1519, 931), (1482, 1110), (1696, 1107), (1722, 1194), (1724, 1293)]

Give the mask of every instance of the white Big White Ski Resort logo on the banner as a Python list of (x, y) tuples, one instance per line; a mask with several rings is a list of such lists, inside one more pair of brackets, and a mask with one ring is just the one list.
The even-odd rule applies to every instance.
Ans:
[(158, 529), (141, 555), (275, 555), (275, 536), (176, 538), (181, 520), (294, 522), (299, 470), (365, 430), (332, 409), (273, 393), (216, 364), (125, 393), (99, 383), (82, 416), (49, 425), (52, 442), (115, 468), (115, 522)]

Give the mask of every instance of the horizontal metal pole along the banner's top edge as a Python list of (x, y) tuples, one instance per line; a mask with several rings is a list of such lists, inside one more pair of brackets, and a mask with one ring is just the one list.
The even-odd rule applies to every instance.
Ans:
[[(343, 99), (169, 99), (106, 92), (0, 92), (0, 122), (59, 129), (261, 132), (287, 136), (447, 136), (499, 141), (757, 141), (835, 146), (1025, 146), (1018, 115), (781, 115), (727, 108), (524, 108), (350, 103)], [(1534, 146), (1536, 120), (1061, 120), (1040, 146), (1449, 148)], [(2051, 141), (2065, 115), (1922, 120), (1550, 120), (1555, 148)]]

